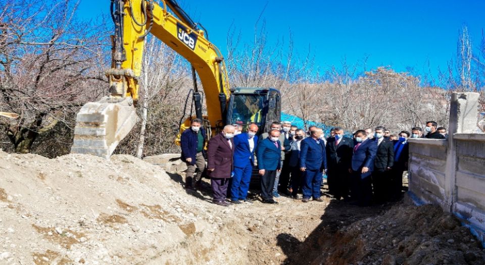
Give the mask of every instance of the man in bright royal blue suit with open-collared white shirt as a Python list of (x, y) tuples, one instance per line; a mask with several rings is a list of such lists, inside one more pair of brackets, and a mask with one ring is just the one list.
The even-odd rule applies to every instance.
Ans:
[(234, 176), (231, 184), (231, 202), (247, 201), (251, 172), (253, 171), (254, 152), (258, 144), (258, 125), (250, 124), (248, 132), (234, 137)]

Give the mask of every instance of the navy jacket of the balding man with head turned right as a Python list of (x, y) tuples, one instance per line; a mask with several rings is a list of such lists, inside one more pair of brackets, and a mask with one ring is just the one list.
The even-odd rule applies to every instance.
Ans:
[(319, 139), (319, 144), (312, 137), (302, 140), (300, 147), (300, 167), (308, 170), (324, 170), (327, 168), (325, 144)]

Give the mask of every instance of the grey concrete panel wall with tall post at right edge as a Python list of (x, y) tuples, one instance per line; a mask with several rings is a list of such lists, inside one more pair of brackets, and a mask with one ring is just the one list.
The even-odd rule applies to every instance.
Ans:
[[(485, 243), (485, 134), (477, 93), (453, 93), (448, 140), (409, 140), (409, 193), (457, 215)], [(485, 244), (484, 244), (485, 246)]]

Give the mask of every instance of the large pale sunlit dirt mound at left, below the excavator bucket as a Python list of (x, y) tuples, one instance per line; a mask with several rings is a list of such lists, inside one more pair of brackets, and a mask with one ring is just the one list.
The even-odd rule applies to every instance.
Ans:
[(232, 209), (132, 156), (0, 152), (0, 176), (1, 264), (247, 263)]

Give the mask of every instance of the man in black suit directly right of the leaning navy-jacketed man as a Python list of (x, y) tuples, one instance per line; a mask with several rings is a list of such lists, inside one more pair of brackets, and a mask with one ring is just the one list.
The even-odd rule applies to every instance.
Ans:
[(372, 172), (372, 188), (375, 201), (378, 203), (389, 199), (390, 171), (394, 165), (394, 144), (391, 140), (385, 139), (384, 131), (382, 126), (374, 129), (377, 152)]

